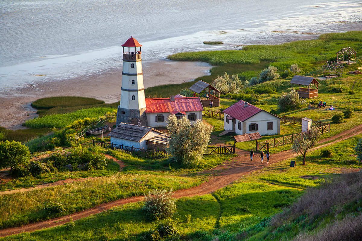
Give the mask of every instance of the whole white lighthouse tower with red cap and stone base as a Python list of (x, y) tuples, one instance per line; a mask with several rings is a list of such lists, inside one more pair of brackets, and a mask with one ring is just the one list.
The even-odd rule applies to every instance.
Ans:
[(147, 126), (146, 100), (142, 72), (142, 45), (131, 36), (123, 47), (121, 102), (117, 110), (116, 125), (121, 122)]

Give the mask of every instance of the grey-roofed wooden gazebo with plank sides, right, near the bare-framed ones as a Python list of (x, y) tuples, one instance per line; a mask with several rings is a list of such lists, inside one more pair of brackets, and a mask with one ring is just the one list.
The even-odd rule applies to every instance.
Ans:
[[(291, 84), (299, 85), (298, 94), (301, 98), (315, 98), (318, 97), (318, 81), (314, 77), (295, 75), (290, 81)], [(308, 88), (302, 88), (301, 86), (307, 86)], [(317, 89), (311, 89), (312, 85), (316, 85)]]

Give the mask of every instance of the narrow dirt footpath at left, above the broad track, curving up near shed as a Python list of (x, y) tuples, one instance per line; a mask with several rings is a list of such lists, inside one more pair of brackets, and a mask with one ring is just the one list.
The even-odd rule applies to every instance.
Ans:
[[(126, 164), (124, 162), (117, 160), (113, 156), (105, 154), (105, 157), (117, 162), (117, 164), (119, 165), (119, 171), (122, 171), (123, 167), (126, 166)], [(68, 183), (73, 183), (73, 182), (84, 182), (84, 181), (92, 180), (92, 179), (96, 179), (96, 178), (100, 178), (100, 177), (68, 178), (66, 180), (59, 180), (56, 182), (40, 184), (40, 185), (37, 185), (32, 188), (20, 188), (20, 189), (8, 190), (8, 191), (0, 191), (0, 195), (12, 194), (12, 193), (24, 193), (25, 191), (39, 190), (39, 189), (43, 189), (43, 188), (48, 188), (50, 186), (59, 186), (59, 185), (64, 185), (64, 184), (68, 184)]]

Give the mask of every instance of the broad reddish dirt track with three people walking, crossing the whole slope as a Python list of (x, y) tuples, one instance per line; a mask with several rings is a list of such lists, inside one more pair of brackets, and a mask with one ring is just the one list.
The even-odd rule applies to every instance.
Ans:
[[(362, 133), (362, 125), (355, 126), (354, 128), (350, 130), (346, 130), (338, 135), (335, 135), (333, 137), (323, 139), (319, 143), (325, 143), (328, 141), (332, 141), (334, 139), (337, 139), (333, 142), (325, 143), (323, 145), (317, 146), (313, 148), (313, 150), (317, 150), (320, 148), (323, 148), (325, 146), (332, 145), (336, 142), (343, 141), (347, 138), (353, 137), (357, 134)], [(214, 191), (223, 188), (224, 186), (227, 186), (231, 184), (232, 182), (238, 180), (240, 177), (256, 171), (258, 169), (264, 168), (266, 163), (260, 163), (259, 159), (254, 157), (254, 162), (251, 162), (248, 156), (247, 151), (243, 150), (237, 150), (238, 156), (232, 159), (232, 161), (224, 163), (224, 165), (219, 165), (218, 167), (203, 171), (202, 173), (211, 173), (214, 174), (213, 177), (209, 178), (209, 181), (203, 182), (199, 186), (195, 186), (193, 188), (189, 189), (183, 189), (178, 190), (174, 193), (173, 197), (175, 198), (181, 198), (181, 197), (193, 197), (196, 195), (204, 195), (204, 194), (210, 194)], [(282, 151), (278, 154), (273, 154), (272, 158), (270, 159), (270, 163), (277, 163), (281, 162), (282, 160), (289, 159), (292, 157), (298, 156), (298, 154), (293, 153), (291, 150)], [(37, 223), (31, 223), (28, 225), (24, 225), (22, 227), (14, 227), (14, 228), (7, 228), (0, 230), (0, 237), (9, 236), (12, 234), (22, 233), (22, 232), (31, 232), (43, 228), (50, 228), (62, 225), (64, 223), (67, 223), (70, 221), (70, 218), (78, 220), (81, 218), (85, 218), (92, 214), (97, 214), (102, 211), (108, 210), (112, 207), (116, 207), (119, 205), (123, 205), (126, 203), (132, 203), (132, 202), (139, 202), (143, 200), (143, 196), (138, 197), (130, 197), (125, 199), (116, 200), (113, 202), (103, 203), (97, 207), (89, 208), (84, 211), (76, 212), (71, 215), (63, 216), (61, 218), (54, 218), (46, 221), (39, 221)]]

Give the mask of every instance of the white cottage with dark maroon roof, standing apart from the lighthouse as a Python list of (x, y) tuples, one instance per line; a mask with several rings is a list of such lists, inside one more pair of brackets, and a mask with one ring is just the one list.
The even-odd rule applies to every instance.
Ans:
[(224, 109), (224, 129), (238, 135), (259, 132), (260, 135), (280, 134), (280, 117), (240, 100)]

